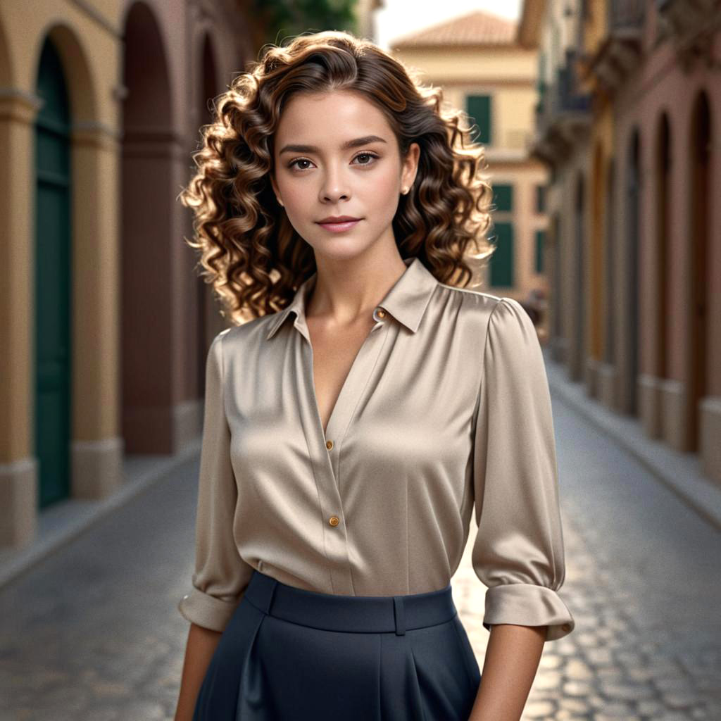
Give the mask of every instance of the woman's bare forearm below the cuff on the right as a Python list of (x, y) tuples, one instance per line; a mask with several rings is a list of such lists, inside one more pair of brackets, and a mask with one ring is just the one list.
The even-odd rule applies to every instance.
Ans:
[(469, 721), (519, 721), (538, 671), (547, 626), (491, 626)]

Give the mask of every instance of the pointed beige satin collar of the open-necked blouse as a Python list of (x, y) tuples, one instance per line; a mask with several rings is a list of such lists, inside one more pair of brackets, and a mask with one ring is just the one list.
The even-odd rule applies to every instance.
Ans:
[[(438, 285), (438, 280), (417, 257), (404, 258), (403, 262), (407, 266), (406, 270), (376, 307), (385, 309), (397, 321), (415, 333), (423, 319), (430, 296)], [(275, 332), (291, 313), (295, 313), (301, 319), (302, 325), (305, 326), (306, 295), (314, 286), (316, 276), (317, 271), (304, 280), (298, 286), (291, 303), (283, 310), (278, 311), (275, 319), (270, 322), (267, 339), (275, 335)]]

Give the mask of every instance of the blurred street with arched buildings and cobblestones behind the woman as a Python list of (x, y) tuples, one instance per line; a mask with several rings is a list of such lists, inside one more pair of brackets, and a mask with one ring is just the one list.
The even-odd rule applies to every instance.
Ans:
[(177, 195), (234, 75), (326, 29), (466, 112), (475, 289), (544, 348), (577, 627), (525, 717), (721, 720), (720, 0), (1, 3), (0, 720), (172, 719), (226, 327)]

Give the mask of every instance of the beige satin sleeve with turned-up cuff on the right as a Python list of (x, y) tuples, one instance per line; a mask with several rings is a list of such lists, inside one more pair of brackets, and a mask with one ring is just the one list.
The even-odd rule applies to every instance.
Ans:
[(488, 589), (483, 625), (575, 621), (557, 590), (565, 580), (551, 397), (531, 318), (500, 298), (488, 320), (474, 430), (474, 572)]

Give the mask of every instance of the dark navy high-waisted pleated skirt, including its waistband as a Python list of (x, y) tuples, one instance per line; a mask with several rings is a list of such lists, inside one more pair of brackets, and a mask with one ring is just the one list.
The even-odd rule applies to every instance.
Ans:
[(450, 585), (335, 596), (256, 570), (193, 721), (467, 721), (480, 681)]

